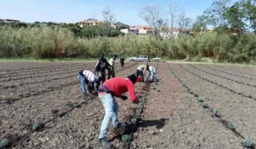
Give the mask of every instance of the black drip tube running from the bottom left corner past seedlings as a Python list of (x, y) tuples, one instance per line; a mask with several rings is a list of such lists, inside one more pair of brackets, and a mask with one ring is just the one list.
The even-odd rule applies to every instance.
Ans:
[[(134, 64), (132, 64), (132, 65), (126, 67), (125, 69), (130, 68), (130, 67), (132, 67), (132, 66), (134, 66), (134, 65), (136, 65), (136, 64), (137, 64), (137, 63), (134, 63)], [(116, 72), (120, 72), (120, 71), (122, 71), (122, 70), (123, 70), (123, 69), (119, 69), (119, 70), (117, 70)], [(76, 83), (73, 83), (73, 84), (76, 84)], [(69, 91), (70, 91), (70, 90), (69, 90)], [(34, 124), (37, 125), (35, 128), (33, 128), (33, 127), (34, 127), (34, 124), (33, 124), (32, 130), (28, 131), (27, 133), (25, 133), (25, 134), (23, 134), (23, 135), (21, 135), (21, 136), (17, 136), (15, 139), (13, 139), (13, 140), (11, 140), (11, 141), (8, 140), (8, 139), (6, 139), (6, 138), (4, 138), (4, 139), (1, 140), (1, 142), (0, 142), (0, 149), (10, 147), (12, 144), (15, 144), (15, 143), (19, 142), (20, 139), (22, 139), (23, 137), (27, 136), (28, 134), (30, 134), (30, 133), (32, 133), (32, 132), (39, 131), (41, 128), (44, 127), (45, 124), (48, 124), (48, 123), (52, 122), (53, 120), (56, 120), (56, 119), (59, 118), (59, 117), (60, 117), (60, 118), (63, 117), (63, 116), (66, 115), (67, 113), (72, 112), (74, 109), (80, 108), (82, 105), (87, 105), (87, 104), (88, 104), (88, 101), (91, 101), (92, 99), (93, 99), (93, 96), (87, 96), (85, 101), (82, 101), (82, 102), (79, 103), (79, 104), (78, 104), (78, 103), (74, 103), (74, 104), (72, 105), (72, 108), (70, 108), (70, 109), (67, 110), (67, 111), (56, 111), (56, 115), (57, 115), (57, 116), (55, 116), (55, 117), (53, 117), (52, 119), (47, 120), (46, 122), (43, 122), (43, 123), (37, 123), (37, 122), (35, 122)], [(0, 101), (0, 102), (1, 102), (1, 101)], [(23, 129), (26, 129), (26, 128), (23, 128)]]

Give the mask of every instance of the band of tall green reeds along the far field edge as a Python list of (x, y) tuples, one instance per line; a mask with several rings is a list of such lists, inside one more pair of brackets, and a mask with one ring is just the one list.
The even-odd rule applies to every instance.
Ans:
[(238, 37), (213, 32), (167, 40), (150, 35), (125, 35), (109, 38), (106, 42), (102, 37), (78, 38), (62, 27), (0, 27), (2, 61), (95, 60), (103, 52), (106, 57), (118, 53), (125, 57), (148, 55), (168, 60), (255, 64), (255, 45), (253, 34)]

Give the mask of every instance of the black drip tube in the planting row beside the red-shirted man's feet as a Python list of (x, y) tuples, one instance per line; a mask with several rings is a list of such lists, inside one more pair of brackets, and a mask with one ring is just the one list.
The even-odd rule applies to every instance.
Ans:
[[(157, 68), (158, 68), (158, 63), (157, 63), (156, 71), (157, 71)], [(127, 143), (126, 143), (125, 149), (129, 149), (129, 148), (130, 148), (130, 141), (131, 141), (131, 138), (132, 138), (132, 136), (133, 136), (133, 131), (134, 131), (136, 125), (137, 125), (137, 120), (141, 119), (141, 114), (142, 114), (142, 112), (143, 112), (143, 108), (144, 108), (144, 105), (145, 105), (146, 100), (147, 100), (147, 96), (148, 96), (148, 92), (149, 92), (150, 87), (151, 87), (151, 83), (150, 83), (150, 82), (146, 82), (146, 84), (145, 84), (143, 87), (148, 88), (148, 90), (147, 90), (146, 92), (144, 92), (144, 96), (141, 97), (141, 99), (140, 99), (140, 107), (139, 107), (139, 109), (136, 109), (136, 110), (139, 110), (139, 111), (140, 111), (140, 112), (139, 112), (139, 116), (138, 116), (137, 118), (134, 117), (134, 118), (136, 118), (136, 119), (135, 119), (136, 122), (135, 122), (135, 123), (132, 122), (132, 123), (133, 123), (132, 131), (131, 131), (131, 133), (130, 133), (130, 135), (129, 135), (129, 139), (128, 139)], [(133, 118), (133, 119), (134, 119), (134, 118)]]

